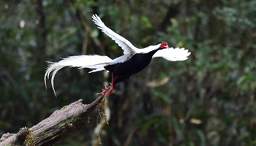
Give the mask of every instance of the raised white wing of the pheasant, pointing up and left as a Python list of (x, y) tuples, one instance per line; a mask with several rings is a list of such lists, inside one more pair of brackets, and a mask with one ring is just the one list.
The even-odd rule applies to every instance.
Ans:
[(129, 42), (127, 39), (124, 39), (124, 37), (121, 37), (119, 34), (116, 34), (116, 32), (112, 31), (110, 28), (105, 26), (105, 24), (102, 22), (102, 20), (99, 18), (99, 16), (92, 15), (92, 20), (94, 23), (98, 26), (99, 29), (102, 30), (105, 34), (107, 34), (108, 37), (113, 39), (113, 41), (118, 44), (123, 50), (124, 55), (126, 54), (135, 54), (136, 50), (138, 50), (135, 46), (132, 45), (131, 42)]

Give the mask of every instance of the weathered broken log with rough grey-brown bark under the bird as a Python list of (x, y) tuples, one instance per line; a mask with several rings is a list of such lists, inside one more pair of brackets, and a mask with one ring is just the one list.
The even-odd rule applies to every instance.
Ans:
[(31, 128), (21, 128), (17, 134), (3, 134), (0, 145), (53, 145), (61, 137), (89, 123), (89, 114), (103, 99), (104, 96), (99, 96), (91, 104), (83, 104), (83, 99), (79, 99)]

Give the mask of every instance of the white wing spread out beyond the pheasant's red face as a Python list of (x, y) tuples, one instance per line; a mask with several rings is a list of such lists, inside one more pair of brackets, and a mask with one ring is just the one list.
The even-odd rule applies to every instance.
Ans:
[(158, 50), (152, 58), (162, 57), (167, 61), (185, 61), (190, 54), (189, 50), (185, 50), (184, 47), (169, 47), (167, 49)]

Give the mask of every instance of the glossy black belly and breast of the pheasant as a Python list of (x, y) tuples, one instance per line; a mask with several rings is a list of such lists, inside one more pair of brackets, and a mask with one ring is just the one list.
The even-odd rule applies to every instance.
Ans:
[(135, 54), (132, 55), (132, 58), (130, 58), (128, 61), (105, 66), (105, 69), (113, 73), (113, 77), (116, 78), (114, 81), (116, 84), (118, 82), (127, 80), (132, 74), (137, 74), (141, 70), (145, 69), (156, 52), (157, 50), (146, 54)]

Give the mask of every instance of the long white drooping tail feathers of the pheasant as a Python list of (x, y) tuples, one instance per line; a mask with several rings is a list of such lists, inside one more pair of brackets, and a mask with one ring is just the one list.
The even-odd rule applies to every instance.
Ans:
[[(45, 71), (45, 88), (47, 88), (46, 85), (46, 78), (49, 79), (50, 72), (52, 73), (51, 77), (51, 85), (53, 88), (53, 92), (56, 96), (56, 92), (54, 89), (54, 77), (56, 73), (62, 69), (65, 66), (70, 67), (78, 67), (79, 69), (82, 68), (89, 68), (93, 69), (91, 72), (99, 72), (102, 70), (105, 70), (104, 66), (108, 65), (112, 59), (110, 59), (108, 56), (102, 56), (102, 55), (74, 55), (68, 58), (63, 58), (59, 62), (49, 62), (50, 65), (48, 66), (48, 69)], [(91, 73), (89, 72), (89, 73)]]

